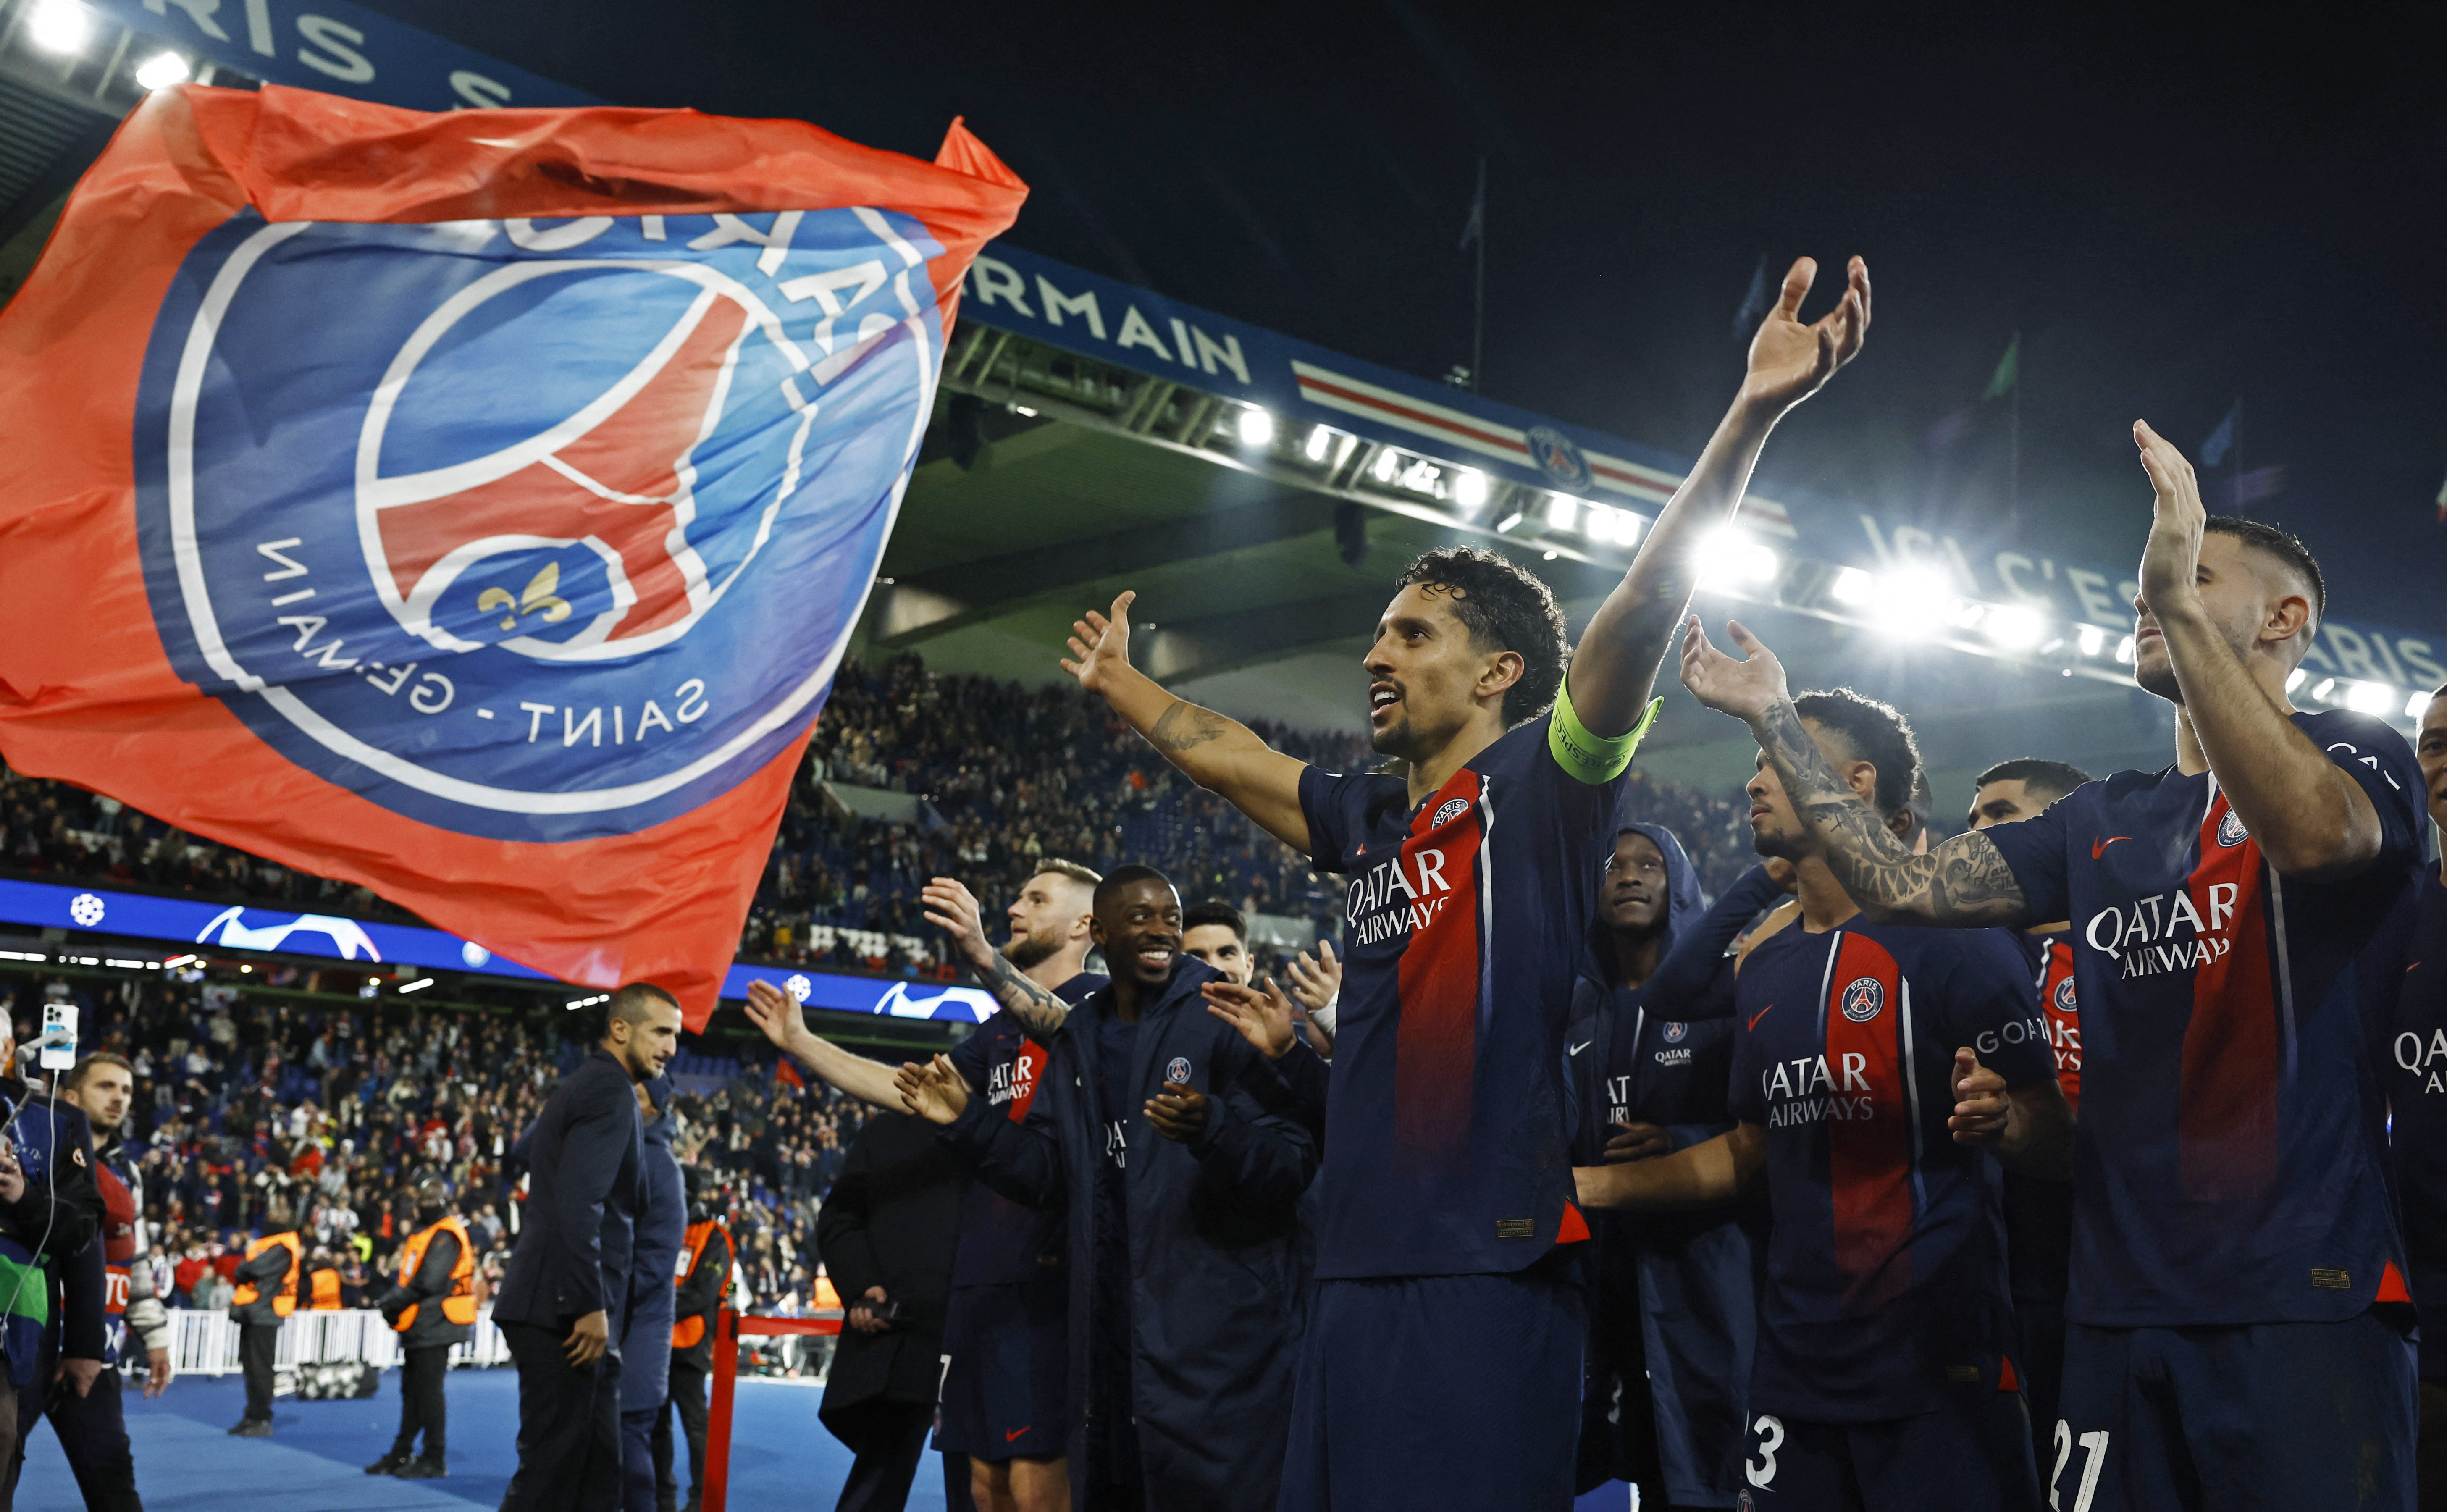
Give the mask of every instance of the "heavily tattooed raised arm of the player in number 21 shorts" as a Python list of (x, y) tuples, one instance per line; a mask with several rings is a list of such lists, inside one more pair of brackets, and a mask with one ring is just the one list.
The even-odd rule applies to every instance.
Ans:
[(1791, 798), (1794, 812), (1818, 834), (1835, 881), (1872, 920), (1884, 925), (2029, 925), (2031, 905), (1987, 834), (1945, 839), (1914, 856), (1818, 751), (1784, 690), (1784, 665), (1740, 624), (1730, 626), (1750, 661), (1708, 643), (1698, 617), (1684, 631), (1684, 687), (1698, 702), (1732, 714), (1759, 736)]

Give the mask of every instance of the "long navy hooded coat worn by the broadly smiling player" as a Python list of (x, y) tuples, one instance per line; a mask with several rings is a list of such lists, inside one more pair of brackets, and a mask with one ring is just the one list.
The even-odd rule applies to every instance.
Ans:
[[(1312, 1255), (1299, 1194), (1316, 1174), (1316, 1143), (1285, 1116), (1275, 1067), (1206, 1013), (1199, 984), (1214, 976), (1179, 957), (1138, 1023), (1123, 1106), (1104, 1108), (1096, 1091), (1096, 1030), (1113, 1010), (1104, 988), (1052, 1035), (1045, 1086), (1023, 1123), (971, 1096), (942, 1133), (1003, 1196), (1067, 1204), (1077, 1507), (1091, 1507), (1096, 1490), (1089, 1404), (1108, 1399), (1099, 1395), (1106, 1382), (1091, 1380), (1094, 1191), (1108, 1121), (1128, 1133), (1131, 1402), (1148, 1507), (1268, 1512), (1282, 1490)], [(1140, 1111), (1177, 1062), (1211, 1099), (1189, 1145), (1157, 1135)]]

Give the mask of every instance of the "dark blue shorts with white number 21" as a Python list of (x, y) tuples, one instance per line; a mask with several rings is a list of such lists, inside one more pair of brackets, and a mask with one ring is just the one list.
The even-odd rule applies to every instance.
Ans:
[(2065, 1326), (2058, 1512), (2405, 1512), (2413, 1343), (2342, 1324)]

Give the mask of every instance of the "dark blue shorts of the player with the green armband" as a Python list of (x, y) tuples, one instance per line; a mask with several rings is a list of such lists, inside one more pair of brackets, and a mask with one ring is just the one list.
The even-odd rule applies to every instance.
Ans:
[(1583, 1329), (1544, 1265), (1316, 1282), (1282, 1512), (1569, 1510)]

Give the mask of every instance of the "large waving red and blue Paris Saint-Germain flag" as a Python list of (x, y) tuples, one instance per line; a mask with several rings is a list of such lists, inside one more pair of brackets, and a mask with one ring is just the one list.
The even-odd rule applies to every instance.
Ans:
[(174, 88), (0, 321), (10, 763), (702, 1023), (1025, 188)]

